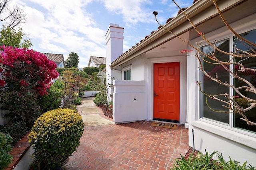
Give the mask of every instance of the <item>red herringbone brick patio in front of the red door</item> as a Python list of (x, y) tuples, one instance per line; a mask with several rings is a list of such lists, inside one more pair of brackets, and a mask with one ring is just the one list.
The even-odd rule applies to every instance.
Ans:
[(85, 127), (67, 170), (169, 170), (188, 149), (188, 129), (150, 121)]

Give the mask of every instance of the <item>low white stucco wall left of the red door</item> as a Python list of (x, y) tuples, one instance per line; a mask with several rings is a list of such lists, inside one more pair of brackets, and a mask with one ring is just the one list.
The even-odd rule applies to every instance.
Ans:
[(147, 119), (145, 81), (114, 80), (115, 123)]

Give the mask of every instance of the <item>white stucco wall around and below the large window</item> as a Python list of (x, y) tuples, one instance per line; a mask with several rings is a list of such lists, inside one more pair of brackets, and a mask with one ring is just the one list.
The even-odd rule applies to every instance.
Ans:
[[(253, 19), (255, 17), (254, 14), (253, 16), (232, 23), (231, 26), (238, 31), (238, 33), (255, 29), (256, 21)], [(226, 27), (222, 27), (211, 33), (207, 33), (205, 37), (207, 37), (209, 41), (214, 42), (215, 40), (218, 41), (226, 38), (232, 39), (233, 35)], [(195, 43), (199, 41), (200, 37), (190, 41), (190, 43), (195, 45)], [(232, 48), (232, 42), (230, 42), (230, 44), (230, 48)], [(192, 53), (194, 53), (194, 51)], [(247, 165), (251, 164), (252, 166), (256, 166), (255, 133), (234, 128), (232, 124), (224, 125), (200, 118), (201, 92), (196, 83), (196, 81), (200, 81), (201, 75), (198, 70), (199, 64), (195, 56), (188, 56), (187, 63), (189, 63), (187, 68), (187, 120), (189, 123), (190, 147), (193, 147), (192, 129), (194, 129), (195, 149), (202, 152), (206, 149), (210, 153), (214, 150), (219, 151), (222, 152), (226, 161), (229, 160), (228, 156), (230, 156), (233, 160), (238, 162), (244, 163), (247, 161)], [(232, 113), (230, 113), (230, 121), (232, 121)]]

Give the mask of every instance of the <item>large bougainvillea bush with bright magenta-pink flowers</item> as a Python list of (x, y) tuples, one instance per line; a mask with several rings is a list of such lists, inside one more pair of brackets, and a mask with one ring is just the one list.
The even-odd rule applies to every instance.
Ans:
[(39, 110), (38, 96), (47, 94), (51, 80), (59, 75), (56, 64), (34, 50), (0, 49), (1, 109), (8, 109), (12, 118), (31, 121), (31, 114)]

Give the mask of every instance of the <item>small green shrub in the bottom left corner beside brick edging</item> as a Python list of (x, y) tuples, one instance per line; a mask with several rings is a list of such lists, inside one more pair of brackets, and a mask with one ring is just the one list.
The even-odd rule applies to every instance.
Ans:
[(11, 147), (12, 137), (8, 134), (0, 133), (0, 170), (4, 170), (10, 163), (12, 163), (12, 155), (9, 152)]

